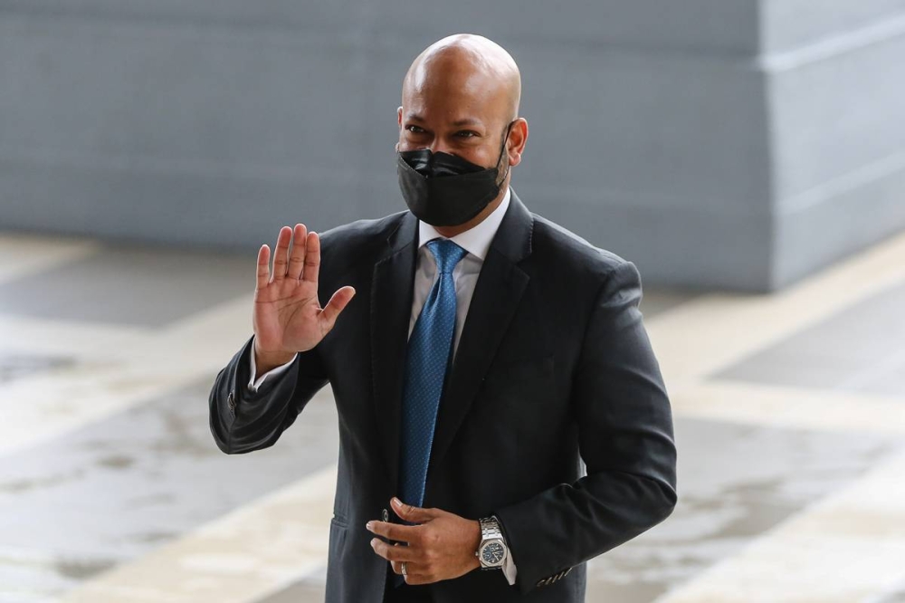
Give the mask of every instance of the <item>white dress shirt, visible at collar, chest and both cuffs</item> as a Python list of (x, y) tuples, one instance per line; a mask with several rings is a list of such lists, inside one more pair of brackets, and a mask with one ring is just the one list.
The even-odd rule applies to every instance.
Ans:
[[(510, 191), (507, 190), (500, 206), (494, 209), (493, 212), (491, 212), (491, 215), (484, 218), (484, 220), (481, 221), (481, 224), (466, 230), (464, 233), (455, 235), (451, 239), (453, 243), (458, 244), (462, 249), (468, 252), (468, 254), (456, 264), (455, 269), (452, 271), (452, 281), (455, 282), (456, 297), (455, 331), (452, 343), (453, 355), (456, 350), (459, 349), (459, 339), (462, 337), (462, 325), (465, 324), (465, 316), (468, 314), (468, 308), (472, 304), (472, 294), (474, 293), (474, 285), (478, 282), (478, 274), (481, 273), (481, 266), (484, 264), (484, 258), (487, 257), (487, 252), (491, 248), (493, 237), (497, 234), (497, 229), (500, 228), (500, 223), (503, 220), (503, 215), (506, 214), (506, 209), (509, 207), (509, 204)], [(426, 244), (433, 241), (433, 239), (443, 238), (446, 237), (438, 233), (432, 225), (419, 220), (418, 263), (414, 272), (412, 316), (408, 323), (409, 336), (412, 335), (414, 323), (418, 320), (418, 315), (424, 307), (424, 302), (427, 300), (427, 296), (430, 294), (433, 282), (436, 280), (437, 276), (436, 260), (433, 259), (433, 254), (430, 249), (427, 248)], [(250, 371), (252, 378), (248, 381), (248, 388), (252, 392), (257, 391), (265, 379), (270, 378), (271, 376), (275, 377), (289, 369), (294, 361), (294, 359), (292, 359), (286, 364), (264, 373), (261, 377), (255, 378), (257, 369), (254, 363), (254, 354), (250, 354), (249, 357), (252, 359)], [(503, 564), (503, 573), (506, 575), (506, 579), (510, 584), (515, 584), (516, 567), (511, 554), (506, 557), (506, 561)]]

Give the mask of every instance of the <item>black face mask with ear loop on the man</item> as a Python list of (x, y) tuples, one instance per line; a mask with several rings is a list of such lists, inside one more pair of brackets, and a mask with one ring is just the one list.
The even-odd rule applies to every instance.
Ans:
[(493, 168), (484, 168), (449, 153), (423, 148), (400, 151), (396, 158), (399, 188), (405, 205), (423, 222), (433, 226), (457, 226), (471, 220), (500, 194), (500, 161), (514, 121), (506, 127), (500, 157)]

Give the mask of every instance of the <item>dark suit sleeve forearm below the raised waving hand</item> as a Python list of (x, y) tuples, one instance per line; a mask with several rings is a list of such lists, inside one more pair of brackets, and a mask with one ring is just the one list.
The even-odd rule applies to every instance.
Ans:
[(252, 391), (248, 387), (252, 341), (246, 341), (220, 371), (208, 398), (211, 433), (228, 455), (275, 444), (311, 397), (328, 383), (318, 349), (314, 348), (297, 354), (285, 371)]

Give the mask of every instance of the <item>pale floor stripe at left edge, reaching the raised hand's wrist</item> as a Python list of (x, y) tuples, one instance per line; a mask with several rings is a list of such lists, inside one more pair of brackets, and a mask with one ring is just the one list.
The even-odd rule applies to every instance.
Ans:
[[(150, 397), (213, 378), (251, 335), (251, 298), (224, 303), (205, 316), (155, 333), (100, 330), (84, 326), (28, 322), (33, 334), (67, 340), (80, 349), (71, 367), (38, 372), (0, 388), (0, 454), (122, 412)], [(240, 318), (244, 317), (244, 321)], [(246, 324), (247, 323), (247, 324)], [(9, 322), (0, 320), (0, 329)], [(55, 327), (59, 327), (55, 330)], [(18, 333), (24, 337), (24, 332)], [(73, 340), (70, 340), (73, 338)], [(83, 344), (77, 338), (84, 338)], [(19, 351), (62, 352), (58, 344), (18, 345)], [(40, 348), (40, 349), (39, 349)]]

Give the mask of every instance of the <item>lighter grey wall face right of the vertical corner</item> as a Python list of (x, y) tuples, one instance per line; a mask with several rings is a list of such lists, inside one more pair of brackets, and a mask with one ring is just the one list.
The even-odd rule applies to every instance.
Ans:
[(771, 0), (764, 21), (784, 284), (905, 226), (905, 1)]

